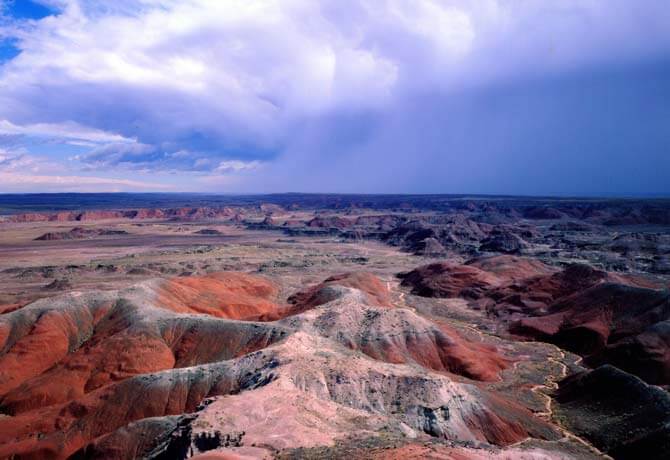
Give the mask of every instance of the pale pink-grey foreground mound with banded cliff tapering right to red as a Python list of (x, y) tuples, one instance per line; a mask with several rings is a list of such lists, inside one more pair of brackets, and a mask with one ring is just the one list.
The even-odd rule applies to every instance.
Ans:
[(275, 363), (266, 367), (275, 378), (211, 398), (194, 414), (193, 445), (198, 435), (215, 430), (243, 433), (244, 445), (274, 449), (329, 445), (380, 430), (501, 445), (557, 437), (526, 410), (473, 385), (352, 353), (304, 332), (264, 350)]

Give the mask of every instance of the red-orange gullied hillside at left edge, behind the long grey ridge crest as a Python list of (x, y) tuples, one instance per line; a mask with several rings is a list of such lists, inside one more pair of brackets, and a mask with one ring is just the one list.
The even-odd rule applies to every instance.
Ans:
[[(41, 300), (5, 315), (3, 323), (21, 322), (11, 315), (32, 314), (40, 320), (2, 356), (5, 369), (10, 370), (1, 393), (3, 410), (17, 414), (80, 397), (134, 375), (230, 359), (287, 334), (276, 326), (176, 315), (148, 307), (152, 294), (146, 286), (122, 292), (113, 304), (104, 304), (103, 312), (90, 313), (82, 306), (80, 314), (91, 320), (82, 325), (83, 333), (71, 328), (58, 329), (61, 335), (45, 335), (40, 329), (47, 320), (54, 328), (68, 324), (77, 311), (68, 305), (69, 296)], [(26, 342), (33, 346), (24, 346)], [(45, 353), (45, 347), (50, 352)]]

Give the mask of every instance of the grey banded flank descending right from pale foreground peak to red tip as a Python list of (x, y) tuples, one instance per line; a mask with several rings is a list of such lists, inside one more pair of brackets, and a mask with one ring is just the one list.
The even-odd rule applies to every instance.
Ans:
[[(314, 395), (373, 414), (396, 412), (414, 430), (448, 439), (473, 438), (505, 444), (523, 436), (551, 437), (551, 428), (525, 410), (499, 401), (473, 385), (455, 383), (447, 376), (417, 374), (412, 367), (372, 361), (351, 360), (333, 347), (332, 341), (317, 343), (306, 335), (287, 341), (297, 350), (326, 350), (304, 362), (293, 361), (291, 374), (298, 387)], [(326, 345), (330, 343), (331, 345)], [(311, 362), (320, 365), (311, 366)], [(329, 369), (324, 373), (324, 369)], [(497, 415), (499, 414), (499, 415)], [(523, 419), (521, 427), (515, 417)]]

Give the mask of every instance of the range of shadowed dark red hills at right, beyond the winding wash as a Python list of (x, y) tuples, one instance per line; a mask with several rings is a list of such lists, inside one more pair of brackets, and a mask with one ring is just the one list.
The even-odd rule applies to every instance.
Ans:
[(414, 294), (468, 299), (513, 334), (580, 353), (587, 364), (614, 364), (670, 384), (670, 294), (652, 289), (654, 281), (509, 256), (431, 264), (400, 276)]

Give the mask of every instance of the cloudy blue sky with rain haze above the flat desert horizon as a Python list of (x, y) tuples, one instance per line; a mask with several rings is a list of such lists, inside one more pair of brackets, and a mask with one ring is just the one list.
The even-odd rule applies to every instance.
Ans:
[(670, 196), (667, 0), (0, 0), (0, 193)]

